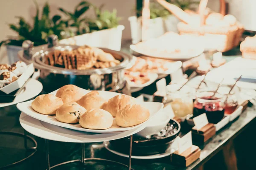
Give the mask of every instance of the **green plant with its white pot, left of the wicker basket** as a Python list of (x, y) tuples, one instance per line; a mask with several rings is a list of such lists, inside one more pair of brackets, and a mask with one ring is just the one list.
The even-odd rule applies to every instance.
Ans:
[[(138, 3), (140, 1), (140, 4)], [(176, 6), (185, 9), (191, 9), (193, 4), (198, 2), (193, 0), (166, 0), (169, 3), (173, 3)], [(139, 6), (139, 7), (138, 7)], [(129, 17), (131, 25), (131, 37), (132, 43), (136, 44), (141, 41), (141, 23), (142, 23), (142, 0), (137, 0), (137, 16)], [(180, 21), (172, 15), (168, 10), (163, 8), (159, 3), (151, 0), (150, 3), (150, 29), (151, 37), (156, 38), (168, 31), (178, 32), (177, 23)]]

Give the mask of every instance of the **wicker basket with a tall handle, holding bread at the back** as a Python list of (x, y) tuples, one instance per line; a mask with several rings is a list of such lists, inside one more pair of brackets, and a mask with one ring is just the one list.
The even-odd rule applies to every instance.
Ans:
[[(221, 1), (220, 13), (224, 14), (225, 2)], [(199, 5), (199, 15), (201, 26), (195, 26), (184, 22), (178, 23), (177, 27), (180, 34), (195, 34), (198, 35), (206, 49), (216, 49), (224, 52), (231, 50), (239, 45), (240, 38), (244, 32), (244, 27), (241, 23), (236, 23), (230, 27), (214, 27), (205, 25), (204, 11), (207, 5), (207, 0), (201, 0)]]

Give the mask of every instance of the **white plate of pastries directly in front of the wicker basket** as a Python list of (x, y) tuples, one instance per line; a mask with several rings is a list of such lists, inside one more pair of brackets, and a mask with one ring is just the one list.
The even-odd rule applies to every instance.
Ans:
[(182, 51), (180, 53), (161, 53), (161, 54), (152, 53), (151, 51), (148, 52), (145, 50), (138, 49), (136, 47), (136, 45), (130, 45), (130, 48), (132, 51), (139, 53), (141, 55), (144, 55), (144, 56), (154, 57), (154, 58), (159, 58), (159, 59), (171, 59), (171, 60), (176, 60), (176, 61), (178, 61), (178, 60), (185, 61), (185, 60), (191, 59), (193, 57), (197, 57), (204, 52), (204, 48), (200, 47), (200, 46), (198, 46), (198, 48), (194, 49), (193, 51)]

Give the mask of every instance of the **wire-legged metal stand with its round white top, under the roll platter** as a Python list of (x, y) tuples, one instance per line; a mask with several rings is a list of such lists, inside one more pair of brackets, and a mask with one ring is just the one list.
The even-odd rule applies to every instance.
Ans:
[[(27, 116), (25, 113), (20, 114), (20, 125), (24, 128), (24, 130), (27, 130), (29, 133), (45, 139), (47, 170), (50, 170), (54, 167), (58, 167), (64, 164), (74, 163), (74, 162), (81, 162), (81, 164), (86, 164), (86, 162), (88, 161), (95, 161), (95, 162), (107, 161), (107, 162), (128, 167), (128, 170), (133, 170), (131, 168), (131, 151), (132, 151), (133, 134), (139, 132), (140, 130), (143, 130), (146, 127), (146, 125), (141, 125), (140, 127), (137, 127), (132, 130), (128, 130), (124, 132), (116, 132), (116, 133), (86, 133), (81, 131), (76, 131), (76, 133), (74, 133), (74, 130), (58, 127), (46, 122), (41, 122), (38, 119)], [(104, 142), (104, 141), (121, 139), (127, 136), (130, 136), (130, 144), (129, 144), (130, 150), (129, 150), (129, 159), (128, 159), (127, 165), (117, 161), (112, 161), (107, 159), (85, 158), (85, 151), (84, 151), (85, 143)], [(49, 140), (59, 141), (59, 142), (81, 143), (81, 159), (62, 162), (60, 164), (56, 164), (50, 167)]]

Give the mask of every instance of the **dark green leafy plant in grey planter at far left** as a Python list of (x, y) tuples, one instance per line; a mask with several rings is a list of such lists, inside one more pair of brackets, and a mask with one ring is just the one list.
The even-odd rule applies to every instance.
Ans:
[(35, 46), (43, 45), (47, 43), (47, 37), (50, 34), (56, 34), (58, 37), (65, 37), (65, 23), (61, 21), (61, 17), (58, 15), (49, 17), (50, 8), (49, 4), (45, 3), (41, 17), (39, 17), (39, 7), (35, 2), (36, 15), (33, 25), (30, 25), (25, 21), (23, 17), (17, 17), (19, 22), (17, 24), (9, 24), (9, 27), (17, 32), (17, 37), (9, 37), (7, 40), (0, 42), (1, 45), (6, 45), (7, 55), (9, 62), (16, 62), (18, 59), (17, 53), (22, 50), (22, 42), (24, 40), (31, 40)]

